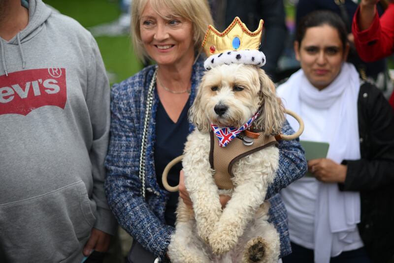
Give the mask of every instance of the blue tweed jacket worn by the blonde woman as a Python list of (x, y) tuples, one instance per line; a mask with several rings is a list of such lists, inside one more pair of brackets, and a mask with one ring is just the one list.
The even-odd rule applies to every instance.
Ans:
[[(110, 144), (106, 158), (108, 170), (105, 182), (107, 199), (119, 224), (143, 247), (163, 258), (174, 228), (164, 223), (164, 209), (168, 192), (161, 189), (156, 181), (154, 165), (155, 119), (158, 95), (155, 93), (152, 118), (147, 131), (146, 150), (146, 200), (141, 196), (141, 181), (138, 178), (139, 156), (143, 130), (147, 91), (155, 66), (148, 66), (131, 78), (112, 88)], [(193, 66), (191, 100), (204, 68), (198, 60)], [(190, 132), (193, 130), (190, 125)], [(293, 130), (286, 122), (284, 134)], [(279, 143), (279, 169), (267, 199), (271, 203), (270, 221), (274, 223), (281, 239), (281, 257), (291, 253), (287, 228), (287, 213), (277, 194), (307, 170), (304, 152), (297, 141)]]

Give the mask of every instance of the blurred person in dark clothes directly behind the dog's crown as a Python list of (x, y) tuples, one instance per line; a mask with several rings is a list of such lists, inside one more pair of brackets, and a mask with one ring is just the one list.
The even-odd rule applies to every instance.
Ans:
[(224, 30), (237, 16), (249, 30), (257, 29), (264, 21), (260, 50), (265, 54), (262, 67), (274, 82), (277, 79), (278, 60), (287, 38), (286, 14), (283, 0), (212, 0), (212, 12), (218, 30)]

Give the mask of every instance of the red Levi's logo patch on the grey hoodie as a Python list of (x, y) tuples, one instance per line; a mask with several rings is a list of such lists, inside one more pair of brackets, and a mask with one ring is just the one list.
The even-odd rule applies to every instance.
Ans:
[(67, 100), (66, 69), (40, 68), (0, 76), (0, 115), (28, 115), (42, 106), (64, 109)]

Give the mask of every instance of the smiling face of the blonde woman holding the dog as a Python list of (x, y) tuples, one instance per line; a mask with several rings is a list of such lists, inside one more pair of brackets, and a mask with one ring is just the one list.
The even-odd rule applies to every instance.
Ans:
[(193, 24), (163, 8), (159, 15), (148, 1), (140, 19), (141, 40), (159, 65), (175, 65), (194, 59)]

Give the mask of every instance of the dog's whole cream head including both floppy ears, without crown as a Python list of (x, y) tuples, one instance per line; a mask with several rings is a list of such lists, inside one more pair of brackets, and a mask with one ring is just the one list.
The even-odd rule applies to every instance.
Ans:
[(211, 123), (240, 127), (259, 110), (255, 124), (262, 125), (267, 133), (280, 132), (283, 107), (264, 71), (252, 65), (221, 65), (202, 78), (190, 118), (199, 130), (208, 131)]

